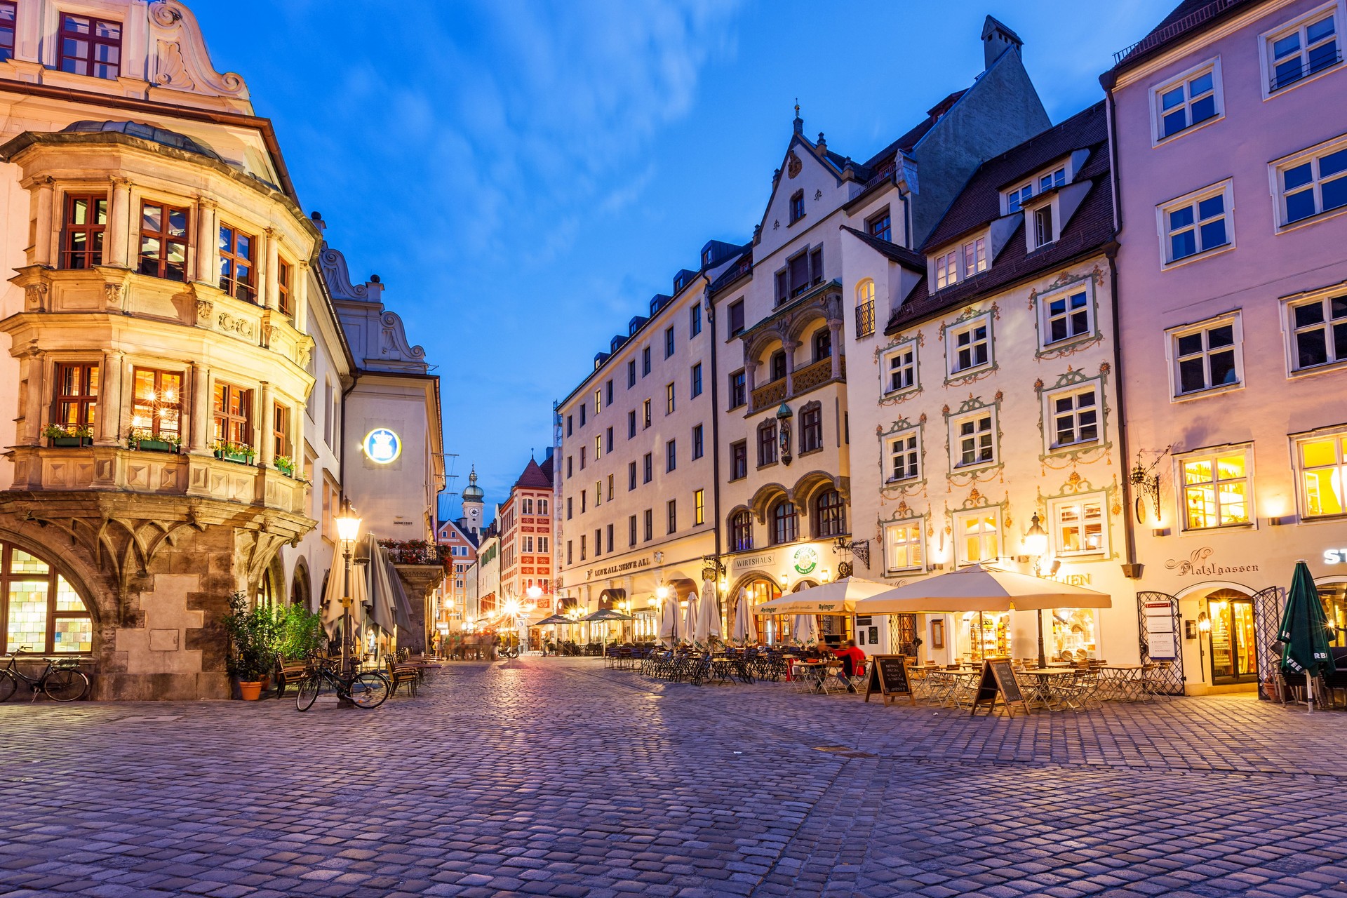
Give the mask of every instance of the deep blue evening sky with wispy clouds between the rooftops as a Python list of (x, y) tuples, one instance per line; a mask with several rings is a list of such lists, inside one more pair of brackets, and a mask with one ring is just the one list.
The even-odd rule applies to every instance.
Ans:
[[(189, 0), (191, 1), (191, 0)], [(707, 240), (745, 242), (799, 97), (866, 159), (982, 70), (991, 13), (1053, 123), (1177, 0), (195, 0), (306, 210), (440, 376), (451, 489), (492, 504), (552, 401)], [(242, 27), (240, 23), (248, 23)], [(459, 513), (458, 502), (451, 514)]]

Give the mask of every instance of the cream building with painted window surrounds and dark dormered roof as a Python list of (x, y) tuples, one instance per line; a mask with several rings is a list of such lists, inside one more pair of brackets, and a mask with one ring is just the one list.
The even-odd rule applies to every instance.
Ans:
[[(979, 166), (920, 257), (849, 230), (853, 277), (890, 296), (911, 284), (850, 384), (855, 536), (877, 547), (874, 575), (993, 563), (1126, 592), (1111, 193), (1098, 104)], [(1034, 525), (1045, 551), (1025, 539)], [(1044, 617), (1049, 657), (1137, 661), (1130, 603)], [(878, 650), (919, 635), (944, 662), (1037, 656), (1029, 613), (897, 623)]]

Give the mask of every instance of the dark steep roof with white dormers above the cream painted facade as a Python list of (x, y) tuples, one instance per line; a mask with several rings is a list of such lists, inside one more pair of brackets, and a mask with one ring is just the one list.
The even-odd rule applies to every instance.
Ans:
[(983, 163), (951, 203), (923, 249), (933, 249), (1001, 217), (1001, 187), (1032, 175), (1043, 166), (1075, 149), (1088, 149), (1072, 183), (1088, 183), (1088, 191), (1055, 242), (1029, 252), (1024, 223), (1010, 234), (1001, 254), (987, 271), (939, 292), (931, 292), (923, 277), (902, 304), (889, 316), (886, 334), (893, 334), (946, 310), (964, 306), (978, 296), (1004, 289), (1026, 277), (1065, 264), (1080, 254), (1100, 249), (1113, 240), (1113, 191), (1109, 167), (1107, 125), (1103, 104), (1072, 116), (1055, 128)]

